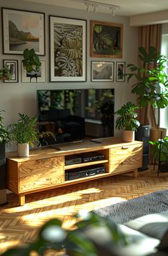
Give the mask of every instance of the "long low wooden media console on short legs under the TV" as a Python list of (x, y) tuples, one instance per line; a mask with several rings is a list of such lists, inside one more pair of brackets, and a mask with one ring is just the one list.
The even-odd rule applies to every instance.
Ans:
[[(142, 146), (141, 141), (126, 143), (120, 138), (99, 138), (62, 144), (59, 149), (33, 149), (28, 158), (17, 157), (16, 152), (6, 153), (6, 188), (18, 194), (19, 205), (23, 205), (25, 195), (37, 191), (127, 172), (137, 177), (137, 169), (142, 166)], [(85, 174), (88, 169), (92, 171)], [(104, 172), (99, 173), (102, 169)], [(76, 178), (76, 174), (85, 176)]]

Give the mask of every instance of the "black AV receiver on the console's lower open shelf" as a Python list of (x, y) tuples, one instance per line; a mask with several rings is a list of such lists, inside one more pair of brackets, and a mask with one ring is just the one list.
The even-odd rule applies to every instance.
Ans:
[(66, 171), (65, 180), (69, 181), (72, 179), (79, 179), (79, 178), (94, 176), (97, 174), (104, 174), (105, 172), (106, 172), (105, 166), (97, 166), (91, 169), (84, 169), (84, 170), (81, 169), (77, 171)]

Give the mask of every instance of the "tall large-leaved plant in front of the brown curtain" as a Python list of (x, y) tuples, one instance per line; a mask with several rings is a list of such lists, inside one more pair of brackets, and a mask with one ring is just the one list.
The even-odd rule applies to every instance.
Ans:
[[(159, 127), (159, 109), (168, 105), (168, 80), (165, 72), (167, 57), (159, 54), (155, 47), (150, 46), (148, 52), (144, 47), (139, 47), (139, 60), (142, 65), (127, 65), (131, 73), (128, 81), (132, 77), (136, 82), (132, 85), (132, 93), (137, 95), (140, 107), (152, 105), (152, 115), (155, 127)], [(156, 108), (158, 111), (155, 111)]]

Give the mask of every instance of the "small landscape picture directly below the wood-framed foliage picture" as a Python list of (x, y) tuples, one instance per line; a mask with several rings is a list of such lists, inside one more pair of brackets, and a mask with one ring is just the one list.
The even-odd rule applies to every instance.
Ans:
[(93, 82), (114, 81), (114, 62), (92, 62)]

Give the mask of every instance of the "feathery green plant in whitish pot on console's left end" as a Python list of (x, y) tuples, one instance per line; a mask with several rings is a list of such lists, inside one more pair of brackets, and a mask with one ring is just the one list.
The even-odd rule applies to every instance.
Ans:
[(17, 156), (29, 156), (29, 146), (34, 147), (34, 143), (39, 143), (39, 138), (52, 136), (54, 134), (47, 131), (39, 133), (36, 115), (30, 118), (28, 115), (19, 113), (19, 120), (8, 127), (10, 141), (16, 143)]

